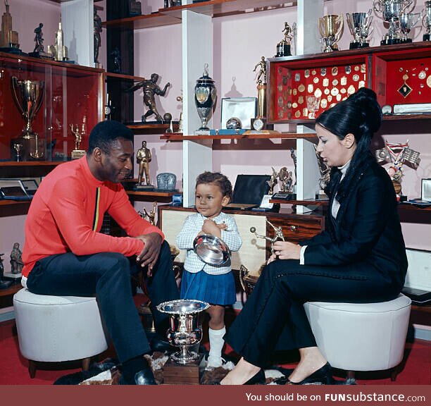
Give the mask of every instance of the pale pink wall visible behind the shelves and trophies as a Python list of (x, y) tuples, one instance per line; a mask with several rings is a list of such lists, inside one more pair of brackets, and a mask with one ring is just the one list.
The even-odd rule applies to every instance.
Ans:
[[(370, 1), (332, 0), (325, 2), (325, 13), (345, 13), (367, 11)], [(45, 44), (54, 41), (55, 31), (60, 15), (60, 6), (48, 0), (12, 0), (11, 13), (13, 27), (20, 35), (23, 51), (32, 51), (34, 47), (33, 30), (39, 22), (44, 23)], [(104, 1), (97, 3), (105, 8)], [(143, 12), (156, 11), (163, 5), (161, 0), (142, 1)], [(416, 11), (423, 7), (423, 2), (416, 6)], [(4, 4), (0, 3), (0, 13), (4, 12)], [(104, 19), (105, 11), (99, 11)], [(282, 8), (258, 13), (247, 13), (242, 16), (215, 18), (213, 71), (210, 72), (218, 88), (218, 103), (213, 118), (213, 127), (220, 128), (220, 105), (223, 97), (256, 97), (256, 73), (253, 68), (261, 56), (269, 58), (275, 55), (277, 42), (282, 39), (285, 21), (289, 24), (296, 20), (296, 7)], [(345, 18), (344, 18), (345, 22)], [(384, 34), (382, 20), (375, 16), (373, 25), (375, 32), (371, 45), (377, 45)], [(422, 28), (413, 30), (416, 41), (423, 34)], [(106, 35), (102, 32), (102, 48), (100, 61), (106, 66)], [(182, 91), (182, 32), (181, 25), (155, 27), (137, 30), (135, 33), (135, 75), (149, 77), (158, 73), (160, 85), (170, 82), (168, 93), (158, 100), (160, 113), (169, 111), (174, 120), (180, 116), (181, 106), (176, 97)], [(351, 35), (346, 26), (339, 41), (339, 48), (349, 47)], [(211, 44), (208, 44), (211, 46)], [(233, 79), (235, 78), (235, 79)], [(197, 78), (196, 78), (197, 79)], [(135, 94), (135, 121), (140, 121), (144, 111), (142, 93)], [(413, 130), (412, 130), (413, 128)], [(429, 121), (385, 124), (376, 137), (376, 147), (381, 147), (387, 137), (390, 142), (410, 140), (411, 148), (420, 152), (422, 161), (417, 170), (405, 168), (403, 190), (408, 197), (419, 197), (420, 178), (431, 178), (431, 145), (429, 137)], [(181, 188), (182, 179), (182, 144), (180, 142), (164, 142), (158, 135), (137, 135), (135, 148), (138, 149), (142, 140), (154, 156), (150, 167), (151, 182), (156, 183), (156, 174), (173, 172), (177, 176), (177, 187)], [(223, 171), (232, 183), (239, 173), (271, 173), (271, 166), (293, 168), (289, 148), (294, 142), (289, 140), (256, 140), (255, 142), (214, 142), (213, 169)], [(137, 167), (135, 165), (135, 173)], [(151, 209), (151, 202), (137, 202), (135, 207)], [(25, 216), (0, 217), (0, 252), (11, 252), (13, 242), (24, 242)], [(420, 223), (403, 223), (404, 238), (408, 247), (431, 250), (431, 225)], [(6, 270), (10, 268), (5, 261)]]

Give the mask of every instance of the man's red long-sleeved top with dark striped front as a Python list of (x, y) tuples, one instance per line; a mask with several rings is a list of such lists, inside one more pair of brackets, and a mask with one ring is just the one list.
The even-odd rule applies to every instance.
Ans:
[[(130, 237), (99, 233), (106, 211)], [(38, 259), (54, 254), (139, 254), (144, 242), (133, 237), (154, 232), (164, 238), (159, 228), (137, 214), (122, 185), (94, 178), (83, 156), (58, 165), (33, 197), (25, 221), (23, 276)]]

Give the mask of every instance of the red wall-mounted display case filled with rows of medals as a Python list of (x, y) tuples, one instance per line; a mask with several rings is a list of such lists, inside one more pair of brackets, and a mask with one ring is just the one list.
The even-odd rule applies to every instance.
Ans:
[(399, 116), (394, 105), (431, 103), (429, 42), (272, 58), (268, 70), (270, 123), (313, 121), (361, 87), (377, 93), (385, 118)]

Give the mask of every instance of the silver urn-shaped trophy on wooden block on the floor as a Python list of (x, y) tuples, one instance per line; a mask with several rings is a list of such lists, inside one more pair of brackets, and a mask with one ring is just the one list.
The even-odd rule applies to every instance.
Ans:
[(196, 352), (189, 351), (189, 347), (201, 342), (202, 329), (197, 316), (209, 306), (209, 303), (191, 299), (170, 300), (157, 306), (159, 312), (170, 316), (167, 337), (171, 345), (180, 347), (180, 351), (170, 357), (178, 364), (189, 364), (199, 358)]

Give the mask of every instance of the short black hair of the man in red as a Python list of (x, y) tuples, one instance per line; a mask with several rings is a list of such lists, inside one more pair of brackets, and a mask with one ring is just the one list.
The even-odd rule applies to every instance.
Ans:
[(96, 147), (109, 154), (115, 140), (120, 137), (133, 142), (133, 131), (115, 120), (97, 123), (89, 135), (87, 154), (92, 154)]

